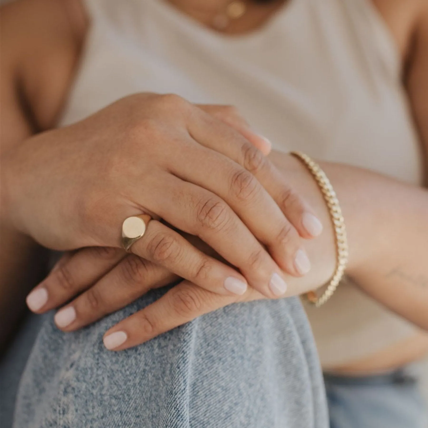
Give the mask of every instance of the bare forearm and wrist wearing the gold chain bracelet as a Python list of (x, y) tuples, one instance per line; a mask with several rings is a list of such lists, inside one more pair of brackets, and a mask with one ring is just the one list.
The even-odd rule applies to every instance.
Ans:
[[(331, 266), (323, 264), (335, 252), (327, 208), (315, 181), (299, 161), (278, 153), (273, 158), (325, 226), (321, 238), (306, 242), (312, 272), (307, 279), (290, 278), (289, 283), (321, 285), (320, 279), (325, 279), (329, 269), (332, 272)], [(428, 191), (367, 170), (320, 164), (345, 217), (350, 246), (347, 274), (380, 303), (428, 329)]]

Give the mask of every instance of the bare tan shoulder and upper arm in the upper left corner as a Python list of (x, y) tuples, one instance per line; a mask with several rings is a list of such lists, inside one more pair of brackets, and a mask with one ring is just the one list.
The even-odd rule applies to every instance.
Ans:
[(2, 88), (18, 94), (37, 128), (62, 107), (88, 26), (80, 0), (16, 0), (0, 9)]

